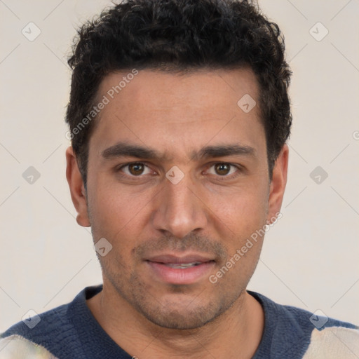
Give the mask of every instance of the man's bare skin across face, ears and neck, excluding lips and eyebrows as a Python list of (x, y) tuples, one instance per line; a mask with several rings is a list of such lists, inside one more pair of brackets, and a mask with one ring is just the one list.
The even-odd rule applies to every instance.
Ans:
[[(127, 73), (109, 74), (98, 99)], [(250, 69), (186, 75), (142, 70), (95, 120), (87, 191), (76, 156), (71, 147), (67, 149), (67, 179), (77, 222), (92, 227), (95, 243), (106, 238), (112, 245), (107, 255), (98, 256), (103, 290), (87, 304), (130, 355), (252, 358), (259, 345), (264, 313), (245, 289), (263, 238), (217, 283), (208, 280), (252, 233), (273, 220), (283, 200), (287, 145), (270, 181), (259, 106), (246, 114), (237, 105), (245, 94), (258, 104), (258, 93)], [(156, 149), (162, 157), (104, 158), (103, 151), (118, 142)], [(251, 147), (252, 152), (193, 156), (202, 147), (224, 144)], [(145, 166), (137, 172), (121, 168), (130, 162)], [(224, 166), (221, 172), (216, 163), (238, 168)], [(165, 177), (172, 166), (184, 174), (177, 184)], [(196, 283), (172, 285), (154, 276), (144, 261), (163, 252), (199, 252), (214, 258), (215, 264)]]

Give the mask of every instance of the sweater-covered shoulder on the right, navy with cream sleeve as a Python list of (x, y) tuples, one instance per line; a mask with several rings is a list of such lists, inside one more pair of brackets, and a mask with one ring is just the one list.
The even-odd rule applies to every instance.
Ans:
[(264, 309), (262, 340), (271, 351), (270, 358), (359, 358), (358, 326), (249, 292)]

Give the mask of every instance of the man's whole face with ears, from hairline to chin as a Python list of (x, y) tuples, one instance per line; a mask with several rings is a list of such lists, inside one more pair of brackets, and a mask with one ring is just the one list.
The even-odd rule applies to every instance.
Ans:
[(98, 256), (104, 292), (161, 327), (201, 327), (245, 294), (263, 238), (241, 248), (280, 209), (287, 149), (270, 182), (258, 105), (237, 104), (258, 104), (249, 69), (143, 70), (113, 94), (126, 74), (98, 92), (109, 102), (90, 137), (86, 196), (67, 153), (78, 222), (112, 245)]

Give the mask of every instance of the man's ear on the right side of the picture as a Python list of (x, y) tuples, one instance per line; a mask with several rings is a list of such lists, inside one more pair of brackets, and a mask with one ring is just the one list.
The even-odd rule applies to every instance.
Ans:
[(273, 219), (277, 217), (277, 214), (282, 206), (285, 185), (287, 184), (288, 156), (289, 149), (287, 144), (285, 144), (280, 151), (273, 168), (273, 175), (269, 189), (268, 215), (266, 218), (267, 224), (271, 224), (273, 222)]

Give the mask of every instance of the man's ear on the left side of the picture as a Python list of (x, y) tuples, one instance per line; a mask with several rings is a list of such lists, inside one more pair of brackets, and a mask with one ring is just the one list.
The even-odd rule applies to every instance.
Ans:
[(66, 162), (66, 178), (69, 183), (72, 203), (74, 203), (77, 212), (76, 221), (80, 226), (89, 227), (91, 224), (88, 219), (85, 185), (71, 146), (66, 150)]

